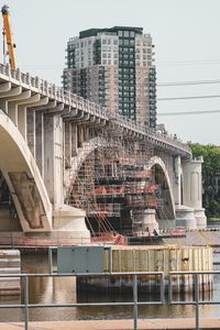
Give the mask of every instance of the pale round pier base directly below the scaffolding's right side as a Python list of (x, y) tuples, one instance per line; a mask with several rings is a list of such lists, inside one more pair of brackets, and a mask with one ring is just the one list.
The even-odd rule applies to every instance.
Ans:
[(158, 230), (158, 223), (155, 218), (155, 209), (133, 211), (133, 234), (143, 237), (146, 235), (146, 232), (153, 233), (154, 230)]

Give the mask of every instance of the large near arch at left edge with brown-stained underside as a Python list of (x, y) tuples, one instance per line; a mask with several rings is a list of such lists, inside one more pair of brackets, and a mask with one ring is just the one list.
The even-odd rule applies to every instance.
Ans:
[(0, 110), (0, 170), (23, 231), (51, 231), (52, 205), (31, 151), (10, 118)]

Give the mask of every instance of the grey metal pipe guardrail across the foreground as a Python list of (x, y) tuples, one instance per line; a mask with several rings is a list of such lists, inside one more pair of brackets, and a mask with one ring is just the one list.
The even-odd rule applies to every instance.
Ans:
[[(20, 277), (23, 280), (23, 301), (21, 304), (0, 304), (0, 308), (23, 308), (24, 310), (24, 329), (29, 330), (31, 308), (56, 308), (56, 307), (103, 307), (103, 306), (132, 306), (133, 307), (133, 329), (138, 330), (139, 306), (145, 305), (193, 305), (195, 306), (196, 330), (199, 330), (199, 306), (200, 305), (220, 305), (220, 301), (200, 300), (199, 299), (199, 278), (201, 275), (220, 274), (220, 271), (212, 272), (169, 272), (168, 275), (168, 300), (165, 300), (165, 280), (163, 272), (129, 272), (129, 273), (77, 273), (77, 274), (1, 274), (1, 277)], [(160, 278), (160, 300), (139, 301), (138, 297), (138, 277), (143, 275), (154, 275)], [(194, 299), (193, 300), (173, 300), (173, 276), (191, 275), (194, 278)], [(75, 302), (75, 304), (31, 304), (29, 298), (29, 279), (31, 277), (67, 277), (67, 276), (132, 276), (133, 277), (133, 299), (128, 302)]]

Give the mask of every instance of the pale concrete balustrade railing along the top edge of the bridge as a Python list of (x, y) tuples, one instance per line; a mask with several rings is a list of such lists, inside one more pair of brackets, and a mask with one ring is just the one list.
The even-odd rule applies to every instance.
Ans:
[(47, 80), (40, 79), (38, 77), (31, 77), (29, 73), (23, 74), (20, 72), (20, 69), (13, 70), (9, 65), (3, 64), (0, 64), (0, 74), (12, 78), (19, 84), (28, 85), (32, 89), (37, 89), (41, 94), (63, 101), (64, 103), (72, 106), (73, 108), (76, 107), (79, 110), (86, 111), (90, 114), (106, 120), (116, 119), (117, 122), (125, 129), (129, 129), (142, 135), (150, 135), (152, 139), (166, 144), (170, 144), (177, 148), (185, 151), (189, 155), (191, 154), (189, 146), (176, 140), (175, 136), (158, 134), (153, 129), (148, 129), (144, 125), (135, 123), (133, 120), (121, 117), (118, 113), (113, 114), (109, 111), (108, 108), (100, 107), (99, 105), (86, 100), (80, 96), (77, 96), (70, 91), (66, 91), (63, 88), (55, 86), (54, 84), (50, 84)]

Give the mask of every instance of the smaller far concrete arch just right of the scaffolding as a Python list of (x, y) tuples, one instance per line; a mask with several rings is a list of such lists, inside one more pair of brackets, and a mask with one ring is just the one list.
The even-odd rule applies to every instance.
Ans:
[(153, 156), (148, 162), (147, 168), (153, 172), (155, 184), (160, 185), (162, 198), (165, 200), (164, 206), (158, 209), (157, 218), (174, 220), (175, 199), (165, 163), (158, 156)]

